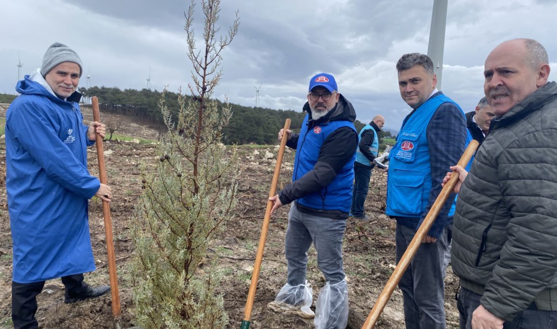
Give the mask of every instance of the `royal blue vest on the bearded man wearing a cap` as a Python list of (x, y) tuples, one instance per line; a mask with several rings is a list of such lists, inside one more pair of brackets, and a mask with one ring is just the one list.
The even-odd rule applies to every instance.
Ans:
[[(354, 131), (354, 124), (350, 121), (327, 121), (308, 130), (309, 115), (306, 115), (302, 123), (300, 137), (296, 147), (296, 158), (294, 159), (294, 171), (292, 181), (300, 179), (306, 173), (314, 169), (319, 158), (319, 150), (331, 132), (340, 127), (350, 127)], [(311, 193), (298, 199), (298, 203), (313, 209), (341, 210), (350, 212), (352, 203), (352, 185), (354, 182), (354, 160), (355, 154), (350, 161), (343, 166), (331, 184), (321, 188), (319, 192)]]

